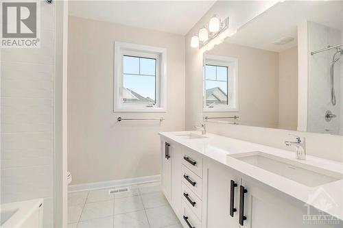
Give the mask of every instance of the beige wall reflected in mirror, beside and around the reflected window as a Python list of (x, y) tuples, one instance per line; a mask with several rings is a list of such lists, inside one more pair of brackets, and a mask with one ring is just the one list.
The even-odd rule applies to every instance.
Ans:
[(239, 123), (277, 127), (279, 121), (279, 54), (223, 43), (208, 51), (238, 59), (239, 112), (204, 113), (206, 116), (239, 116)]

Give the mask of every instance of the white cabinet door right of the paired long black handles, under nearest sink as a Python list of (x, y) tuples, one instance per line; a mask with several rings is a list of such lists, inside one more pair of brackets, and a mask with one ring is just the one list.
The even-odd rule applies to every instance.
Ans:
[[(244, 225), (249, 228), (300, 228), (300, 227), (342, 227), (341, 225), (308, 224), (303, 220), (307, 215), (305, 203), (254, 180), (242, 178), (244, 193)], [(239, 188), (241, 188), (239, 186)], [(240, 192), (239, 192), (240, 195)], [(243, 205), (242, 205), (243, 206)], [(238, 210), (240, 211), (240, 210)], [(239, 212), (237, 214), (239, 215)]]

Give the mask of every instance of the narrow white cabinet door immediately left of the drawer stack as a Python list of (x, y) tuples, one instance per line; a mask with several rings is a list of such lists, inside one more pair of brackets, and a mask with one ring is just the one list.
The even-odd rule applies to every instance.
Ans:
[(170, 145), (171, 151), (171, 204), (175, 213), (181, 215), (181, 173), (182, 173), (182, 148), (177, 144)]

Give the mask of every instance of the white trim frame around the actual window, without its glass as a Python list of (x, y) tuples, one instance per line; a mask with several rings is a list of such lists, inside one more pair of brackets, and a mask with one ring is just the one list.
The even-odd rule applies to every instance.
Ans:
[[(155, 58), (156, 61), (156, 104), (158, 107), (146, 107), (138, 104), (123, 104), (120, 89), (123, 87), (123, 53), (141, 52), (141, 57)], [(159, 63), (158, 63), (159, 62)], [(167, 50), (160, 47), (115, 42), (113, 112), (166, 112), (167, 110)]]

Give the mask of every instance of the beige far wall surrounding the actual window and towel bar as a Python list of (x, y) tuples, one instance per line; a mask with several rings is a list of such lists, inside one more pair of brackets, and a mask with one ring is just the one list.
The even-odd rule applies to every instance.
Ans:
[[(167, 112), (113, 113), (115, 41), (167, 49)], [(185, 38), (69, 17), (68, 168), (72, 184), (159, 175), (159, 131), (185, 129)], [(122, 122), (117, 117), (165, 121)]]

